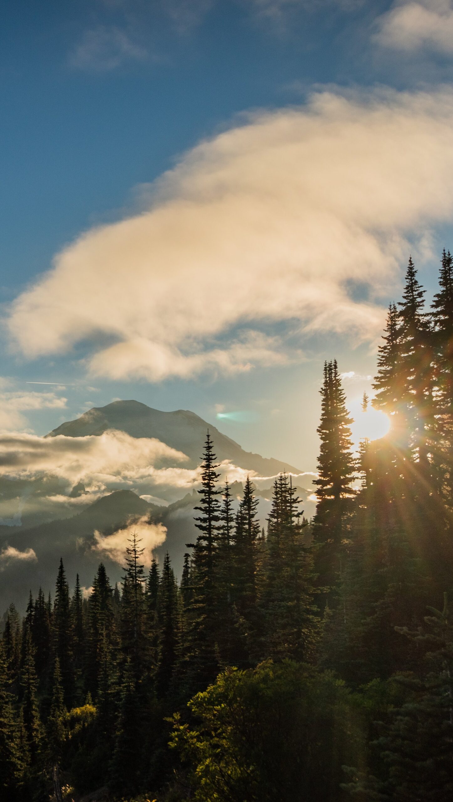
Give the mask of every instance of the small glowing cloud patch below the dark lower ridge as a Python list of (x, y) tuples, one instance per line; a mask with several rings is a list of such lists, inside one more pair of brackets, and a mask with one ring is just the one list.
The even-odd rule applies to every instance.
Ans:
[(104, 537), (99, 532), (95, 532), (95, 544), (91, 546), (92, 551), (111, 560), (124, 565), (126, 559), (126, 548), (129, 545), (131, 533), (135, 532), (140, 540), (140, 548), (144, 549), (140, 561), (145, 568), (149, 568), (152, 563), (152, 551), (162, 545), (167, 537), (167, 529), (163, 524), (150, 524), (146, 516), (140, 518), (134, 524), (118, 529), (112, 535)]

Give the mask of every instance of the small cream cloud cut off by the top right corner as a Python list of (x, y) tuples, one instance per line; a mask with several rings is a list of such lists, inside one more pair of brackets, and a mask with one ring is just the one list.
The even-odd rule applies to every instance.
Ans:
[(451, 0), (398, 2), (378, 18), (375, 39), (383, 47), (402, 51), (425, 48), (453, 54), (453, 3)]

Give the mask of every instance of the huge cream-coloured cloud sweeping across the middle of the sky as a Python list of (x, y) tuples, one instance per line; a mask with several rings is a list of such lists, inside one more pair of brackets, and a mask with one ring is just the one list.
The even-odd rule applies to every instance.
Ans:
[(28, 358), (88, 341), (92, 374), (151, 381), (286, 363), (276, 322), (301, 346), (372, 341), (410, 242), (453, 212), (452, 124), (449, 90), (248, 115), (165, 173), (150, 209), (59, 253), (10, 335)]

